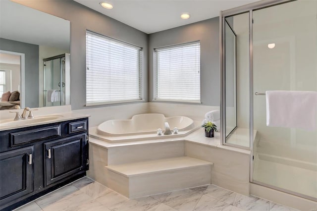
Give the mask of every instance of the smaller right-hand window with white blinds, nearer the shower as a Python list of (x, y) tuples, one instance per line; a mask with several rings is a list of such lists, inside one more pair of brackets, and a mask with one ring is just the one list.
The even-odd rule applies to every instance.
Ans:
[(200, 103), (200, 42), (154, 50), (155, 100)]

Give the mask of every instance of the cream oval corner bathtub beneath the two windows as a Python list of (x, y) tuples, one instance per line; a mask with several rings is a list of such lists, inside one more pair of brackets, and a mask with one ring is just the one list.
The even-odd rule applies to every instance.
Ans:
[[(168, 122), (171, 135), (163, 135), (164, 122)], [(178, 128), (177, 134), (173, 133), (174, 127)], [(163, 131), (162, 135), (157, 134), (159, 128)], [(105, 121), (91, 131), (90, 135), (107, 142), (125, 142), (182, 137), (197, 128), (194, 120), (186, 116), (165, 117), (160, 113), (145, 113), (134, 115), (131, 119)]]

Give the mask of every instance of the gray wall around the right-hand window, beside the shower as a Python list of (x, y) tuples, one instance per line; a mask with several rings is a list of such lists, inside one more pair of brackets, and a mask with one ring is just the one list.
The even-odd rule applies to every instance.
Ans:
[(149, 35), (149, 101), (153, 94), (153, 51), (155, 48), (200, 41), (201, 102), (205, 106), (220, 105), (219, 18), (180, 26)]

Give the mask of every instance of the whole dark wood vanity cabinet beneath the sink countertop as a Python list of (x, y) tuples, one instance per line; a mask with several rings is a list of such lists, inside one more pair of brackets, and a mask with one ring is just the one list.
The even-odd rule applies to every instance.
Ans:
[(0, 210), (83, 177), (88, 168), (88, 118), (0, 131)]

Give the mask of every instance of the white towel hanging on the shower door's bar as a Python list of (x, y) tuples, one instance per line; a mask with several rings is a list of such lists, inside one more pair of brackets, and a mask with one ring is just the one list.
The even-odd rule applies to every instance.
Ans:
[(317, 92), (266, 91), (266, 125), (316, 129)]

